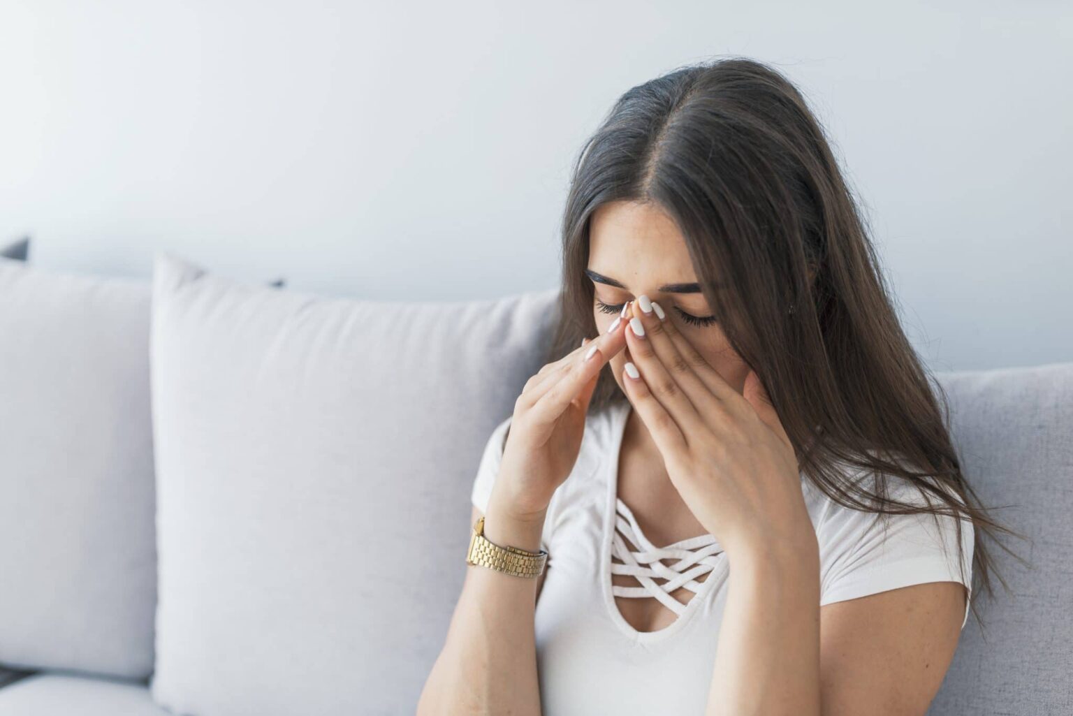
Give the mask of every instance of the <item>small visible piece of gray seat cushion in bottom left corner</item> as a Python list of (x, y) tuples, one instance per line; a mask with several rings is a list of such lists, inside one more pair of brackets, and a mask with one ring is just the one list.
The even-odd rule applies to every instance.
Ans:
[(144, 683), (40, 673), (0, 689), (0, 716), (174, 716)]

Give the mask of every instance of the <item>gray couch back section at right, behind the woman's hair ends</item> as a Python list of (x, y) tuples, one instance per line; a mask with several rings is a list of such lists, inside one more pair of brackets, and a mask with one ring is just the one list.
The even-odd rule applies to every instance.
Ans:
[(984, 631), (969, 618), (929, 713), (1073, 713), (1073, 363), (937, 378), (970, 484), (1031, 542), (999, 537), (1027, 566), (988, 542), (1010, 591), (973, 593)]

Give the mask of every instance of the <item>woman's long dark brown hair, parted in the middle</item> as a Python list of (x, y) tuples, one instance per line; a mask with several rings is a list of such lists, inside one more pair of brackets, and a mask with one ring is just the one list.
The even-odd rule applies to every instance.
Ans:
[[(902, 332), (870, 231), (797, 88), (768, 65), (726, 57), (618, 99), (574, 164), (550, 360), (597, 335), (584, 275), (589, 220), (613, 201), (653, 203), (676, 221), (704, 296), (767, 389), (806, 478), (850, 509), (955, 517), (962, 559), (961, 520), (971, 521), (974, 582), (994, 597), (983, 538), (1017, 534), (987, 516), (961, 474), (946, 396)], [(590, 410), (624, 399), (604, 371)], [(854, 472), (873, 476), (874, 489)], [(917, 486), (929, 507), (891, 498), (887, 476)]]

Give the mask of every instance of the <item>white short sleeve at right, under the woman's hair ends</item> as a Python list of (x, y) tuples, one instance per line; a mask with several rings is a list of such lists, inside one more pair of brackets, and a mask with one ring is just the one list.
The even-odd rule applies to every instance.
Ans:
[[(921, 491), (908, 480), (887, 481), (888, 495), (927, 507)], [(936, 507), (945, 503), (928, 495)], [(958, 502), (962, 503), (960, 499)], [(888, 521), (884, 534), (882, 521)], [(938, 526), (936, 525), (938, 521)], [(961, 515), (964, 556), (958, 559), (954, 516), (881, 515), (844, 508), (832, 501), (817, 527), (820, 542), (820, 605), (927, 582), (959, 582), (968, 589), (965, 618), (972, 598), (973, 527)]]

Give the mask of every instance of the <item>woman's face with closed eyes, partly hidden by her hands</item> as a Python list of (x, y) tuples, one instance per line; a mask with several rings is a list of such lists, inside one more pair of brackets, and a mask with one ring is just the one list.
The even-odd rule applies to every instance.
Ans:
[[(593, 286), (592, 316), (601, 334), (626, 302), (647, 295), (723, 380), (741, 392), (749, 366), (727, 344), (719, 317), (712, 320), (711, 308), (696, 287), (686, 240), (658, 206), (635, 202), (600, 206), (590, 222), (587, 275)], [(636, 304), (630, 310), (641, 312)], [(622, 366), (630, 360), (629, 349), (611, 360), (620, 389)]]

